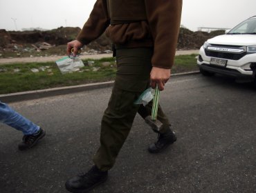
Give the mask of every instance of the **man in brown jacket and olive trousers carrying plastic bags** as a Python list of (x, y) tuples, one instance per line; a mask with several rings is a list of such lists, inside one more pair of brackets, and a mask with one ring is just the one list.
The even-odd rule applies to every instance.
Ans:
[[(174, 64), (181, 22), (182, 0), (97, 0), (77, 39), (67, 53), (77, 50), (105, 32), (114, 44), (117, 72), (111, 98), (104, 111), (100, 148), (89, 172), (66, 181), (70, 192), (87, 192), (107, 179), (108, 170), (131, 130), (134, 117), (151, 114), (152, 103), (143, 108), (134, 101), (149, 87), (164, 90)], [(141, 110), (143, 109), (143, 110)], [(157, 119), (163, 123), (150, 153), (163, 151), (176, 141), (161, 106)]]

